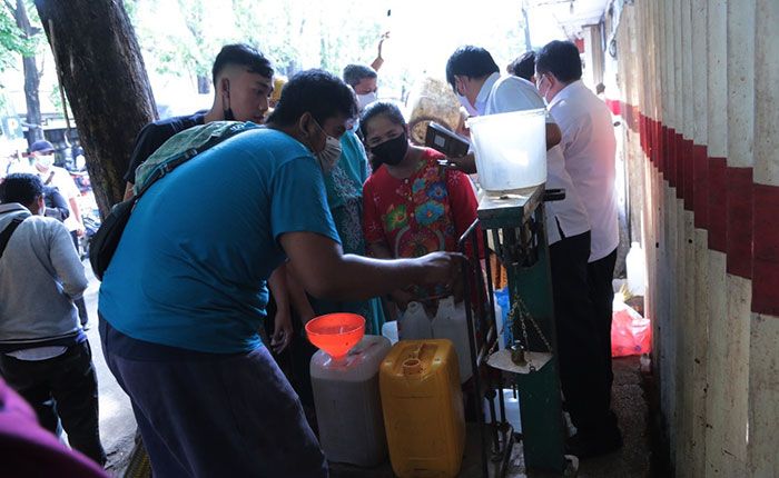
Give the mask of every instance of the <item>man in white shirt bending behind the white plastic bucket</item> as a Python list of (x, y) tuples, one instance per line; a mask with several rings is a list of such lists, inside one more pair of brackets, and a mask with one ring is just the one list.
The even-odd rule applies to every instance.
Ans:
[[(515, 76), (501, 77), (490, 53), (477, 47), (462, 47), (450, 57), (446, 77), (455, 92), (480, 114), (496, 114), (544, 108), (535, 86)], [(565, 199), (546, 203), (552, 290), (558, 330), (560, 379), (566, 408), (580, 428), (592, 427), (607, 416), (593, 414), (593, 380), (582, 370), (602, 370), (594, 305), (588, 285), (590, 222), (584, 205), (569, 176), (560, 146), (559, 129), (546, 117), (546, 187), (565, 189)], [(463, 163), (464, 161), (458, 161)], [(601, 374), (603, 375), (603, 374)], [(579, 451), (579, 450), (572, 450)], [(582, 458), (582, 457), (580, 457)]]

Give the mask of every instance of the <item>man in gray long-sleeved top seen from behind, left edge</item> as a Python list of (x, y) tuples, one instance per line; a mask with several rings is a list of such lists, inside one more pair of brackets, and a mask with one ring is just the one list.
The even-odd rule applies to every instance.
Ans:
[(106, 462), (97, 377), (73, 299), (87, 288), (68, 229), (43, 217), (43, 183), (9, 175), (0, 185), (0, 372), (72, 448)]

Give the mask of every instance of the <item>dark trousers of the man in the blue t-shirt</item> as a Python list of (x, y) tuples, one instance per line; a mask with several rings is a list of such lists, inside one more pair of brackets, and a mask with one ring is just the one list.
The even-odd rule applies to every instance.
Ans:
[(155, 478), (327, 476), (300, 401), (265, 347), (201, 353), (134, 340), (100, 319)]

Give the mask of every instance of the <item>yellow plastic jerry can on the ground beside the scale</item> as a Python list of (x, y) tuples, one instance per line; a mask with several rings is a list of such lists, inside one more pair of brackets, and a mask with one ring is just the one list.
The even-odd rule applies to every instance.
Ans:
[(379, 389), (395, 475), (456, 476), (465, 448), (465, 417), (452, 341), (395, 343), (382, 362)]

